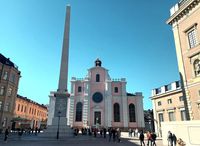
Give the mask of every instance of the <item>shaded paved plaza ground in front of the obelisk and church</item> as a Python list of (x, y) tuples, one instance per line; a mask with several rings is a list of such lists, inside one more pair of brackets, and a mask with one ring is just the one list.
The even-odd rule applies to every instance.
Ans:
[[(39, 137), (34, 134), (32, 135), (22, 135), (21, 137), (17, 134), (11, 134), (8, 138), (7, 143), (3, 141), (4, 135), (0, 135), (0, 145), (1, 146), (139, 146), (138, 138), (129, 138), (128, 133), (122, 133), (122, 141), (120, 143), (108, 141), (107, 138), (88, 136), (88, 135), (78, 135), (76, 137), (68, 138), (44, 138)], [(147, 141), (145, 141), (147, 143)], [(157, 140), (157, 146), (163, 146), (162, 140)]]

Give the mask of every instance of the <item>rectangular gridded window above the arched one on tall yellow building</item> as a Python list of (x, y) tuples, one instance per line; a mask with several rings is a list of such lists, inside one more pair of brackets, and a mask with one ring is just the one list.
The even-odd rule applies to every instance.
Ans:
[(198, 45), (198, 41), (197, 41), (197, 31), (196, 31), (196, 28), (193, 27), (191, 28), (188, 32), (187, 32), (187, 35), (188, 35), (188, 42), (189, 42), (189, 47), (190, 48), (193, 48), (193, 47), (196, 47)]

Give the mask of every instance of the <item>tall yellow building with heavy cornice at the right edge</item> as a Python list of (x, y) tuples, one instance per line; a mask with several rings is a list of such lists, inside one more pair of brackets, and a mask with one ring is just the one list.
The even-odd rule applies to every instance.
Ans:
[(200, 0), (181, 0), (170, 10), (188, 120), (200, 120)]

